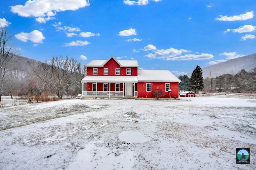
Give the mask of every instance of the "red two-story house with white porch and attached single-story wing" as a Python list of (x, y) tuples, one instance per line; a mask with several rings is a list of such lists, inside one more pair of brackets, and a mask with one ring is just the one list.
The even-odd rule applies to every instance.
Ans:
[(153, 98), (153, 90), (163, 90), (164, 98), (170, 94), (178, 98), (180, 80), (169, 70), (138, 70), (138, 61), (116, 60), (113, 56), (85, 66), (81, 98)]

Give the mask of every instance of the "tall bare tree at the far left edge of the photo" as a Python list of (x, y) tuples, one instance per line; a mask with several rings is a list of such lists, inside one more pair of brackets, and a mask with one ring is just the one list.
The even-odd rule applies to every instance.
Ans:
[(14, 47), (11, 44), (13, 36), (9, 34), (10, 32), (7, 26), (2, 27), (0, 25), (0, 104), (5, 78), (8, 74), (11, 74), (13, 63), (18, 60), (18, 56), (14, 52)]

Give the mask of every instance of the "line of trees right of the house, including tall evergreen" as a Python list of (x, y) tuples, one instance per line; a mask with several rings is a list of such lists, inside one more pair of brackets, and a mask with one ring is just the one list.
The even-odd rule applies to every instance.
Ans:
[(223, 74), (215, 78), (203, 78), (202, 68), (196, 66), (191, 77), (187, 75), (178, 77), (182, 82), (179, 90), (204, 92), (256, 92), (256, 68), (251, 72), (241, 70), (237, 74)]

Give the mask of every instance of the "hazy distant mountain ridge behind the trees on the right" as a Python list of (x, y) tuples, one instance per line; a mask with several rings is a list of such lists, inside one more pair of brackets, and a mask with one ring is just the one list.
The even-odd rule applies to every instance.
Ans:
[[(223, 74), (236, 74), (240, 70), (244, 69), (250, 72), (256, 67), (256, 53), (252, 55), (247, 55), (244, 57), (239, 57), (236, 59), (231, 59), (222, 63), (214, 64), (212, 66), (207, 66), (202, 68), (203, 77), (210, 77), (210, 72), (212, 73), (212, 78)], [(192, 72), (188, 73), (187, 76), (190, 77)]]

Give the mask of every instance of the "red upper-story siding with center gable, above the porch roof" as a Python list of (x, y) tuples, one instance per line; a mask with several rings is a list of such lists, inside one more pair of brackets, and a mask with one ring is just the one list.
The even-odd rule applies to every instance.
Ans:
[[(93, 68), (98, 68), (98, 74), (92, 74)], [(103, 67), (87, 67), (88, 76), (104, 76), (104, 68), (108, 68), (108, 75), (106, 76), (137, 76), (138, 68), (137, 67), (120, 67), (120, 65), (114, 60), (110, 59)], [(116, 75), (116, 68), (120, 68), (120, 74)], [(127, 75), (126, 69), (131, 68), (132, 74)]]

